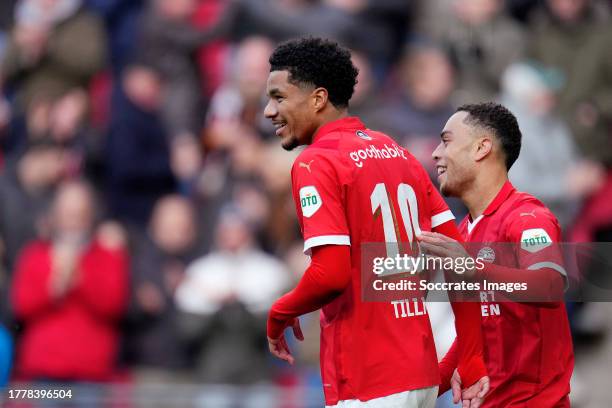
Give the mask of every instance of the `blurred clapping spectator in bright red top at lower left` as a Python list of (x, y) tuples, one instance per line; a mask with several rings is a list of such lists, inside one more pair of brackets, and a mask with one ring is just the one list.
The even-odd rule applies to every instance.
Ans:
[(32, 380), (105, 380), (115, 369), (118, 321), (127, 301), (127, 256), (120, 227), (94, 227), (94, 196), (63, 184), (49, 239), (21, 253), (12, 287), (23, 324), (16, 373)]

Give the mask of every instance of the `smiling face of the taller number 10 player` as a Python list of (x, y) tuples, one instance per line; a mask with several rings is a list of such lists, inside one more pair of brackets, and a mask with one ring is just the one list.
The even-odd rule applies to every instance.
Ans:
[(289, 71), (272, 71), (268, 76), (264, 115), (274, 124), (285, 150), (312, 140), (317, 129), (313, 91), (314, 87), (291, 82)]

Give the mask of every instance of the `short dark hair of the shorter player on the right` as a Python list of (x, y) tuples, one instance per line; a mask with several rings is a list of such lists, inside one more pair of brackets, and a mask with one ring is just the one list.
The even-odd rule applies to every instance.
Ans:
[(495, 134), (501, 143), (506, 170), (514, 164), (521, 152), (521, 130), (516, 117), (506, 107), (493, 102), (461, 105), (457, 112), (467, 112), (465, 123), (481, 127)]

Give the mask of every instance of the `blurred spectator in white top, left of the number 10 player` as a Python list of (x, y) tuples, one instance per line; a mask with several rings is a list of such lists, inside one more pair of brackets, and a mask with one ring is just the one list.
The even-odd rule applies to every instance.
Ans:
[(176, 290), (183, 330), (202, 345), (196, 358), (202, 381), (249, 383), (269, 378), (265, 318), (289, 283), (285, 266), (255, 245), (245, 217), (226, 208), (216, 248), (187, 268)]

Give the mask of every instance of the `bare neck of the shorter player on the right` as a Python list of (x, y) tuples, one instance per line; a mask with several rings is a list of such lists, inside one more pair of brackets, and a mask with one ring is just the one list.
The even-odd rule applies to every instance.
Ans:
[(461, 201), (468, 208), (472, 220), (480, 217), (508, 181), (505, 171), (481, 171), (471, 188), (461, 195)]

